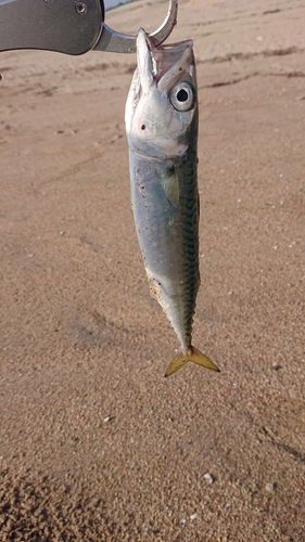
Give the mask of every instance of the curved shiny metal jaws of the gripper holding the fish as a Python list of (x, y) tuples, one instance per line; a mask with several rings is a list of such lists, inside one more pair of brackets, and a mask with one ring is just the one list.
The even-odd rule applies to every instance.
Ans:
[[(174, 26), (177, 24), (178, 0), (169, 0), (169, 8), (164, 23), (152, 34), (150, 40), (154, 46), (160, 46), (168, 38)], [(101, 36), (93, 50), (109, 51), (115, 53), (135, 53), (136, 38), (131, 34), (120, 34), (110, 28), (105, 23), (101, 24)]]

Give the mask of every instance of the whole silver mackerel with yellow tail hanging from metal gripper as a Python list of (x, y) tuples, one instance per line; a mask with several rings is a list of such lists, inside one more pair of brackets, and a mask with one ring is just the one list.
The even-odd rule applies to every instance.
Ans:
[(199, 113), (192, 40), (154, 47), (140, 28), (125, 124), (131, 208), (150, 294), (180, 341), (165, 376), (189, 361), (219, 371), (192, 345), (200, 286)]

